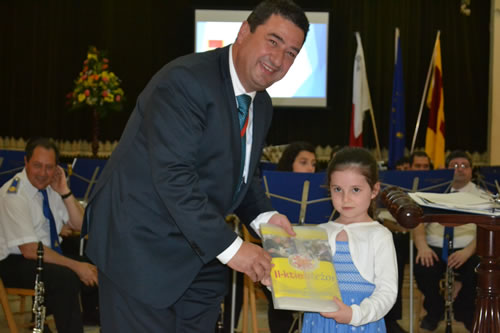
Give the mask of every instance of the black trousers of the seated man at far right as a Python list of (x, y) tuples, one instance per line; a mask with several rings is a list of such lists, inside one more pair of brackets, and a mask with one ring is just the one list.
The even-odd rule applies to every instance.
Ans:
[[(431, 247), (440, 260), (431, 267), (415, 264), (415, 279), (418, 289), (424, 294), (424, 308), (432, 322), (439, 322), (444, 315), (445, 300), (439, 292), (439, 281), (444, 278), (446, 263), (441, 260), (442, 248)], [(452, 251), (455, 252), (459, 249)], [(479, 257), (473, 255), (460, 268), (455, 270), (457, 280), (462, 282), (462, 289), (453, 302), (453, 312), (457, 321), (464, 322), (470, 327), (474, 320), (477, 276), (475, 268), (479, 264)]]

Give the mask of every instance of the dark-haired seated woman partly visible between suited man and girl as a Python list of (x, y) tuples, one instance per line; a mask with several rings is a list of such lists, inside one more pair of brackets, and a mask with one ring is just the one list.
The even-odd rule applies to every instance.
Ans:
[[(316, 152), (313, 145), (303, 141), (290, 143), (283, 151), (276, 171), (316, 172)], [(298, 323), (294, 323), (294, 311), (274, 309), (271, 292), (267, 287), (262, 289), (269, 301), (267, 316), (271, 333), (289, 332), (292, 324), (294, 332), (298, 328)]]

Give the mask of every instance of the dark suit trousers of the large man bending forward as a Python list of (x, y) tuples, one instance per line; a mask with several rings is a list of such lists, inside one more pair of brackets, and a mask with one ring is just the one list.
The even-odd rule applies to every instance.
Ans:
[(158, 309), (132, 297), (99, 271), (103, 333), (213, 333), (226, 290), (226, 268), (212, 261), (179, 300)]

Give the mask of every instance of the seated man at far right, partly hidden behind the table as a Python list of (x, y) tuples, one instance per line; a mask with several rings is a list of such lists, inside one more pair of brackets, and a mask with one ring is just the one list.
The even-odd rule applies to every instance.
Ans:
[[(454, 169), (451, 192), (470, 192), (483, 194), (472, 179), (472, 161), (467, 153), (453, 151), (446, 158), (446, 165)], [(453, 227), (453, 249), (443, 255), (445, 228), (439, 223), (420, 224), (415, 228), (414, 238), (417, 248), (415, 259), (415, 279), (418, 288), (424, 294), (424, 308), (427, 315), (420, 327), (434, 331), (442, 320), (445, 300), (439, 293), (439, 281), (444, 277), (446, 267), (450, 266), (458, 273), (457, 281), (461, 287), (455, 291), (453, 302), (454, 318), (464, 323), (471, 330), (474, 319), (477, 278), (474, 268), (479, 263), (476, 251), (476, 225), (464, 224)], [(446, 251), (444, 251), (446, 253)]]

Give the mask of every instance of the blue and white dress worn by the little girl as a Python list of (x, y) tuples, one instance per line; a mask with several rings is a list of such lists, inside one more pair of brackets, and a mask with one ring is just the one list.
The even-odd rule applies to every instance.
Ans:
[[(365, 298), (369, 297), (375, 285), (366, 281), (352, 262), (349, 252), (349, 243), (336, 241), (336, 251), (333, 256), (333, 264), (337, 273), (340, 294), (342, 301), (347, 305), (360, 304)], [(384, 333), (384, 319), (361, 326), (351, 326), (348, 324), (339, 324), (334, 319), (325, 318), (316, 312), (306, 312), (304, 314), (304, 324), (302, 333)]]

